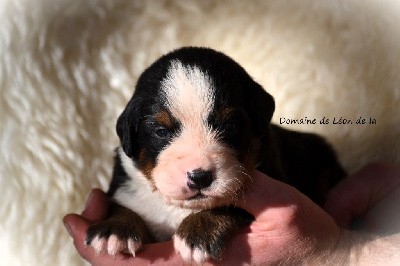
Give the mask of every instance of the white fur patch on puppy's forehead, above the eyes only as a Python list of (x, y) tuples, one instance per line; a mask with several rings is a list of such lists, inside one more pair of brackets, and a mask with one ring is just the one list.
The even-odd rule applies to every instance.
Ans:
[(181, 123), (206, 122), (214, 103), (214, 85), (207, 73), (172, 61), (162, 89), (169, 110)]

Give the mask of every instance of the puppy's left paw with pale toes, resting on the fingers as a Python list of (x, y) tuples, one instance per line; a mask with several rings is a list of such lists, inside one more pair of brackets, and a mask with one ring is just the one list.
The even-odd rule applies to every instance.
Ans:
[(117, 254), (135, 256), (142, 243), (142, 234), (134, 226), (107, 220), (90, 226), (85, 240), (97, 254), (105, 252), (113, 257)]

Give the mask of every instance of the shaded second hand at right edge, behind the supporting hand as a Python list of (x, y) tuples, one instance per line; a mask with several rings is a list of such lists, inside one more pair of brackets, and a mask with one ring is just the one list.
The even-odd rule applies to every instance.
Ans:
[(391, 234), (400, 232), (399, 202), (400, 167), (371, 163), (334, 187), (325, 209), (342, 227)]

